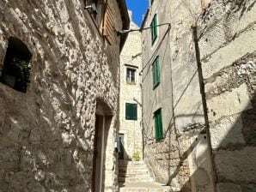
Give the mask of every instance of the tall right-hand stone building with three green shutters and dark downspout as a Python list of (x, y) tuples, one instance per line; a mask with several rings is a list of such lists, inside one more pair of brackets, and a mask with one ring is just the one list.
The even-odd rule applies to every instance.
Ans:
[(144, 161), (177, 191), (255, 191), (255, 1), (150, 3)]

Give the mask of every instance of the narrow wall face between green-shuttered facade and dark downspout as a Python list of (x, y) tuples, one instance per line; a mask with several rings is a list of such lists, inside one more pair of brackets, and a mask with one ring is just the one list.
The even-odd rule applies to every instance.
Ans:
[(171, 4), (174, 124), (180, 149), (180, 163), (176, 172), (180, 190), (187, 192), (214, 191), (209, 138), (192, 33), (201, 7), (201, 1), (182, 0)]

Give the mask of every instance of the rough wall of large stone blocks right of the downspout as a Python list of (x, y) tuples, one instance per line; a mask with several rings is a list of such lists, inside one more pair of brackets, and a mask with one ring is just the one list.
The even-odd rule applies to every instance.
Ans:
[(216, 188), (254, 192), (255, 1), (214, 1), (198, 24)]

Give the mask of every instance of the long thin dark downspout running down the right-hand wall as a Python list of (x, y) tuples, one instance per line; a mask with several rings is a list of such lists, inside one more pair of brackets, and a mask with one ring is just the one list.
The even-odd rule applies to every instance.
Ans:
[(205, 90), (204, 90), (204, 77), (203, 77), (203, 70), (202, 70), (202, 63), (201, 63), (201, 57), (200, 57), (200, 48), (198, 45), (198, 25), (195, 24), (192, 26), (192, 35), (193, 35), (193, 41), (195, 45), (195, 52), (196, 52), (196, 61), (198, 65), (198, 79), (199, 79), (199, 87), (200, 87), (200, 93), (202, 97), (202, 105), (203, 105), (203, 111), (204, 111), (204, 121), (205, 121), (205, 130), (207, 135), (207, 142), (209, 147), (209, 153), (210, 153), (210, 169), (211, 174), (213, 176), (213, 189), (216, 191), (216, 174), (215, 174), (215, 166), (213, 165), (213, 153), (212, 153), (212, 147), (210, 142), (210, 126), (209, 126), (209, 118), (207, 115), (207, 103), (206, 103), (206, 96), (205, 96)]

